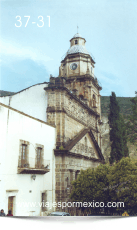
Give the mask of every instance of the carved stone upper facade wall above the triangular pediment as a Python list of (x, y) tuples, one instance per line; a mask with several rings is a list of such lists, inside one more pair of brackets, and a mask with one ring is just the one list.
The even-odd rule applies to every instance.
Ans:
[(84, 127), (92, 129), (98, 141), (96, 115), (65, 90), (48, 90), (48, 98), (47, 122), (56, 125), (57, 146), (72, 139)]

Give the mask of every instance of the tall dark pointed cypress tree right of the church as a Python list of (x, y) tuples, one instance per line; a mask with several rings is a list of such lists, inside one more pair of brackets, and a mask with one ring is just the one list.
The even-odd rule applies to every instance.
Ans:
[(116, 100), (116, 95), (112, 92), (110, 96), (110, 113), (108, 115), (110, 125), (110, 164), (118, 162), (122, 157), (129, 155), (127, 148), (127, 135), (124, 119), (120, 114), (120, 108)]

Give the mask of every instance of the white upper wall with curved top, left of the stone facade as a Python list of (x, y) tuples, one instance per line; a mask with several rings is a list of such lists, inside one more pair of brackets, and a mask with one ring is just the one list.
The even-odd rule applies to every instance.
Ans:
[(0, 97), (0, 102), (30, 116), (47, 121), (47, 93), (44, 87), (47, 87), (46, 83), (31, 86), (15, 95)]

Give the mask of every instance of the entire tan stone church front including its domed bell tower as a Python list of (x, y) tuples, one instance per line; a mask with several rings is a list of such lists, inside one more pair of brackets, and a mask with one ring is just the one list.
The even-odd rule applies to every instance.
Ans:
[(48, 95), (47, 122), (56, 126), (56, 202), (69, 201), (71, 181), (81, 169), (104, 163), (100, 132), (102, 88), (94, 76), (95, 61), (85, 42), (78, 33), (70, 40), (59, 77), (51, 76), (44, 88)]

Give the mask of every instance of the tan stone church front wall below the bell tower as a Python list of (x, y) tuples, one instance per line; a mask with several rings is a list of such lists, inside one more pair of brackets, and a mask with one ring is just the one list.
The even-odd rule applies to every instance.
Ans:
[[(83, 137), (69, 152), (60, 150), (61, 146), (76, 137), (84, 128), (90, 128), (97, 141), (98, 119), (83, 103), (63, 88), (48, 89), (47, 122), (56, 125), (55, 150), (55, 201), (69, 201), (72, 186), (81, 169), (93, 168), (100, 164), (94, 145)], [(94, 160), (93, 160), (94, 158)], [(61, 210), (56, 208), (56, 210)]]

